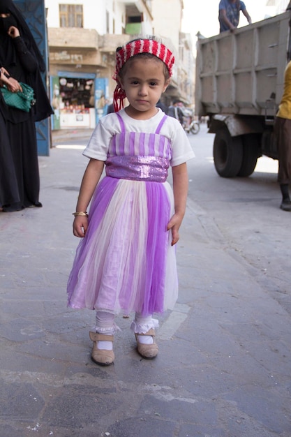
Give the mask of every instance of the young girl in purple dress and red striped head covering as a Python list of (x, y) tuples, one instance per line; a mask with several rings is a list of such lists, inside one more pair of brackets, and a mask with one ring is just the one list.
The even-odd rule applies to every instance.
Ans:
[[(170, 50), (154, 39), (118, 47), (116, 112), (100, 119), (83, 152), (90, 161), (73, 233), (84, 238), (68, 280), (68, 306), (96, 310), (91, 358), (101, 365), (114, 362), (114, 315), (120, 311), (135, 311), (137, 351), (156, 357), (152, 314), (177, 299), (174, 244), (186, 208), (186, 161), (194, 154), (179, 121), (156, 108), (173, 64)], [(124, 98), (129, 105), (121, 109)], [(106, 176), (98, 183), (104, 164)], [(170, 165), (174, 195), (166, 182)]]

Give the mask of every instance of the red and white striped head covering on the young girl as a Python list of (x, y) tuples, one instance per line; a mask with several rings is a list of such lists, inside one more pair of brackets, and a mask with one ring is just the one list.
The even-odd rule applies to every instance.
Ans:
[(115, 73), (113, 76), (113, 79), (117, 81), (117, 86), (114, 89), (113, 94), (113, 105), (115, 112), (119, 111), (121, 108), (124, 108), (124, 98), (126, 98), (126, 94), (121, 88), (121, 84), (117, 76), (128, 59), (141, 53), (150, 53), (156, 56), (158, 59), (161, 59), (165, 66), (167, 66), (170, 76), (172, 76), (174, 54), (172, 54), (172, 52), (162, 43), (159, 43), (154, 39), (140, 38), (132, 40), (122, 47), (118, 47), (116, 52)]

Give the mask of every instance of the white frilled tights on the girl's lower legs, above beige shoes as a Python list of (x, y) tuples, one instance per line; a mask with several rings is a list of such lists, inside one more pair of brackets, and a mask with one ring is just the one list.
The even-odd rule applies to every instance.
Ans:
[[(141, 313), (135, 313), (133, 323), (130, 329), (136, 334), (145, 334), (151, 328), (158, 327), (158, 320), (149, 316), (142, 316)], [(96, 311), (96, 332), (104, 335), (113, 335), (117, 332), (117, 325), (114, 323), (114, 314), (106, 311)], [(140, 343), (152, 344), (153, 339), (150, 335), (139, 335)], [(98, 349), (112, 350), (112, 341), (98, 341)]]

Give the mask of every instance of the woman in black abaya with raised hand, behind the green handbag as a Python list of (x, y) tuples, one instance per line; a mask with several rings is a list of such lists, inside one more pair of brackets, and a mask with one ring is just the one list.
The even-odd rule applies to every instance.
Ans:
[(4, 212), (41, 207), (35, 121), (49, 117), (52, 108), (40, 77), (40, 71), (45, 71), (45, 63), (27, 23), (12, 0), (0, 0), (0, 66), (18, 82), (29, 84), (36, 97), (36, 105), (29, 112), (6, 106), (6, 131), (19, 200), (5, 201), (0, 206)]

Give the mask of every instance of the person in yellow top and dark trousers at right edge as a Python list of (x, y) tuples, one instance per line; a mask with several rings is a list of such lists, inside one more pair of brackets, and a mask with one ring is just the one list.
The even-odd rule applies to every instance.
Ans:
[(285, 68), (284, 91), (274, 121), (274, 135), (278, 149), (278, 183), (282, 193), (280, 208), (291, 211), (291, 61)]

